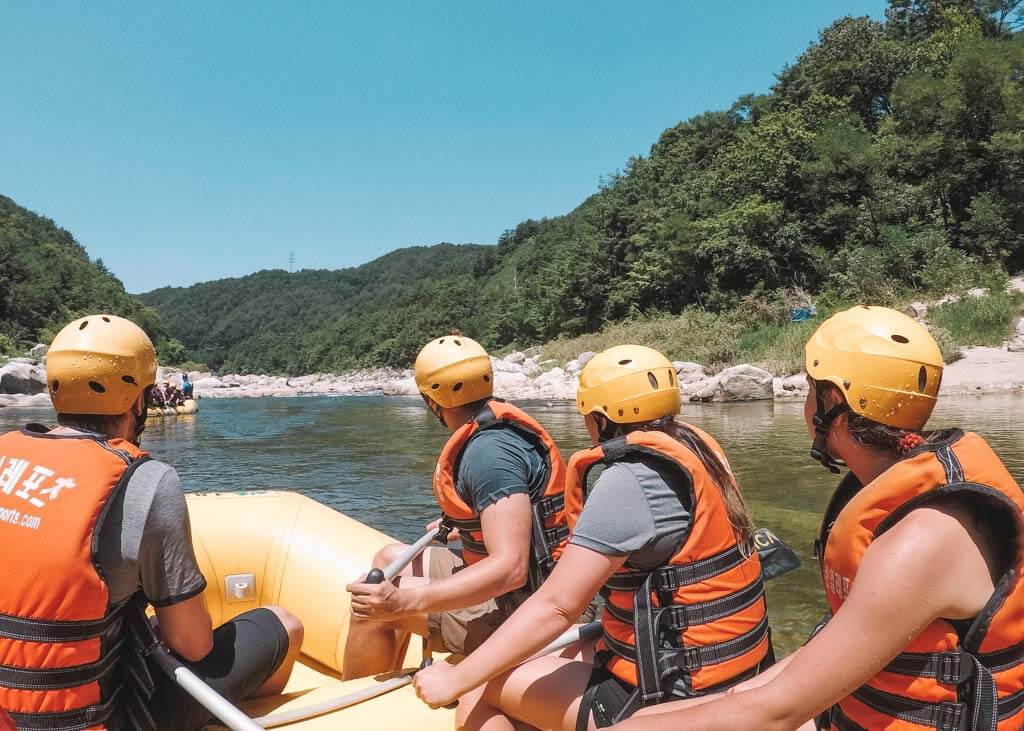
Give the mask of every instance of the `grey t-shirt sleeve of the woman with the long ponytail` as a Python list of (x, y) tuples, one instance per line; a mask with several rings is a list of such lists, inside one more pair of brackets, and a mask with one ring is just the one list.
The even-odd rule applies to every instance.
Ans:
[(631, 567), (664, 565), (689, 532), (689, 479), (659, 460), (630, 456), (601, 472), (569, 543), (604, 556), (627, 556)]

